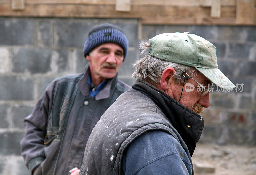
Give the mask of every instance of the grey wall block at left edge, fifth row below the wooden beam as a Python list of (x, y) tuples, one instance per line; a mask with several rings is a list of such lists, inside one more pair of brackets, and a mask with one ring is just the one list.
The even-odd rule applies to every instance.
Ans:
[(0, 150), (2, 155), (20, 155), (20, 141), (24, 133), (6, 132), (0, 133)]

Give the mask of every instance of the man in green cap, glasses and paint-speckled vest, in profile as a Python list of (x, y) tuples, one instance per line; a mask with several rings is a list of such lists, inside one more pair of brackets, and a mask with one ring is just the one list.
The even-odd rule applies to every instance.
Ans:
[(235, 85), (218, 69), (216, 48), (185, 33), (141, 44), (138, 78), (102, 115), (86, 144), (80, 174), (193, 174), (191, 156), (204, 127), (212, 83)]

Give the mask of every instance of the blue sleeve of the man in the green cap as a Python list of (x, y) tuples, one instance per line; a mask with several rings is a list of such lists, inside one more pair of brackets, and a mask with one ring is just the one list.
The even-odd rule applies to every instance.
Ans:
[(192, 165), (172, 135), (155, 130), (140, 135), (128, 145), (122, 158), (121, 174), (189, 175)]

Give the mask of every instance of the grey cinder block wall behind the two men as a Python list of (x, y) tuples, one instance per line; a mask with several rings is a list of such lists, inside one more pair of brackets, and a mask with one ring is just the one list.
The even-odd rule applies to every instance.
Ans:
[[(29, 174), (20, 156), (23, 119), (54, 78), (84, 71), (84, 41), (93, 26), (104, 22), (121, 27), (128, 37), (118, 75), (132, 85), (132, 64), (139, 56), (136, 19), (0, 17), (0, 174)], [(256, 27), (143, 25), (141, 37), (184, 31), (211, 41), (219, 68), (235, 84), (244, 83), (242, 92), (210, 95), (200, 142), (256, 144)]]

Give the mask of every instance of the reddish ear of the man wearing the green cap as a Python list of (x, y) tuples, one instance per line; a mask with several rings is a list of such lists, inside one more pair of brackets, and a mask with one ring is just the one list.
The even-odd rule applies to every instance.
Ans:
[(174, 75), (174, 73), (175, 70), (173, 67), (168, 67), (164, 69), (160, 80), (160, 85), (163, 90), (167, 90), (170, 87), (172, 76)]

